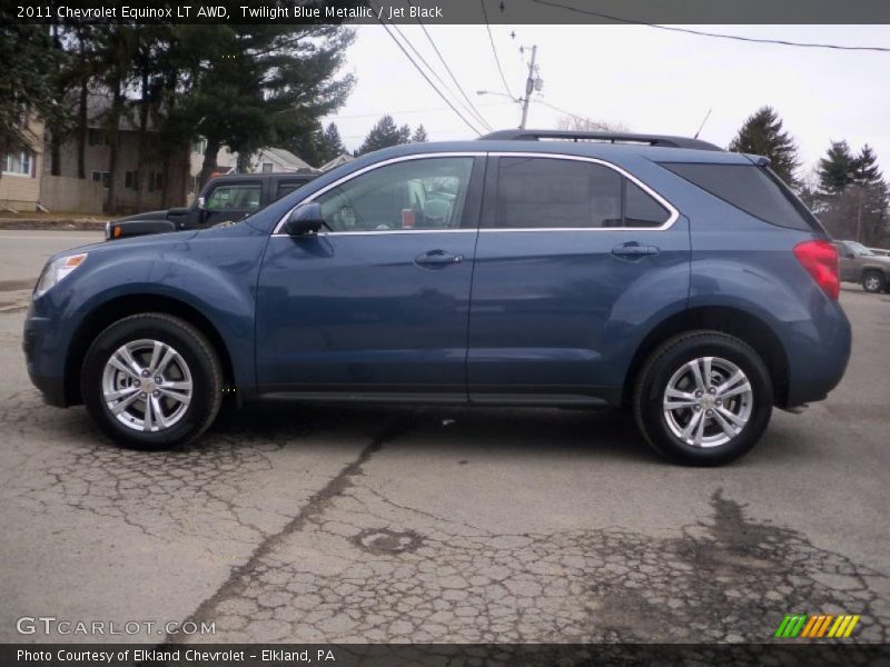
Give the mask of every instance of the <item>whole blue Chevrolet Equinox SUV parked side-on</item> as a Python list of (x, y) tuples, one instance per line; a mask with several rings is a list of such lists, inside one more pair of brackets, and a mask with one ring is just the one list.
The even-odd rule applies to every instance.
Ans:
[(48, 404), (128, 446), (194, 440), (225, 396), (611, 405), (669, 459), (714, 465), (840, 381), (838, 291), (834, 246), (763, 158), (514, 130), (364, 156), (228, 227), (57, 255), (24, 351)]

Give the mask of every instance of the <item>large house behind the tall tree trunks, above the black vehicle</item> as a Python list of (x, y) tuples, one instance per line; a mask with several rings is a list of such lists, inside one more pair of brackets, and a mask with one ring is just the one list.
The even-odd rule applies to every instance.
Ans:
[[(110, 147), (108, 112), (110, 99), (106, 94), (90, 93), (87, 98), (87, 128), (83, 142), (83, 175), (79, 178), (79, 135), (76, 130), (66, 137), (59, 150), (47, 143), (43, 161), (41, 201), (52, 201), (51, 210), (99, 212), (82, 210), (95, 208), (90, 190), (101, 188), (106, 210), (125, 213), (181, 206), (186, 201), (188, 155), (185, 151), (159, 153), (157, 129), (149, 121), (148, 137), (142, 141), (136, 109), (129, 103), (118, 125), (118, 156), (116, 172), (109, 172)], [(47, 138), (49, 139), (49, 138)], [(56, 159), (57, 158), (58, 161)], [(53, 177), (53, 178), (49, 178)], [(140, 178), (141, 177), (141, 178)], [(108, 201), (111, 179), (115, 180), (115, 201)], [(58, 179), (58, 180), (57, 180)], [(72, 183), (72, 180), (77, 182)], [(93, 186), (88, 186), (95, 183)], [(62, 193), (67, 195), (62, 195)]]

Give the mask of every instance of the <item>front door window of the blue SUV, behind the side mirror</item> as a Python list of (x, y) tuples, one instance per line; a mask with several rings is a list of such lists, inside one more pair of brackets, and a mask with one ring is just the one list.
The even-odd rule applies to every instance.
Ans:
[(317, 197), (333, 231), (455, 229), (473, 158), (427, 158), (380, 167)]

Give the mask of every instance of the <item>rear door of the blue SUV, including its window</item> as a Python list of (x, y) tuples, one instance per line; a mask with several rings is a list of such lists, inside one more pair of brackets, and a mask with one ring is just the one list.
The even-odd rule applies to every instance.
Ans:
[(471, 400), (616, 400), (642, 331), (684, 306), (689, 262), (688, 220), (629, 173), (589, 158), (492, 155)]

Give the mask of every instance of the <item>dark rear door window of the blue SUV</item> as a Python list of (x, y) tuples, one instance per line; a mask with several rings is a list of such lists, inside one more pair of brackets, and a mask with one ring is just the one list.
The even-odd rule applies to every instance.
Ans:
[(495, 227), (660, 227), (670, 212), (614, 169), (578, 160), (501, 158)]

